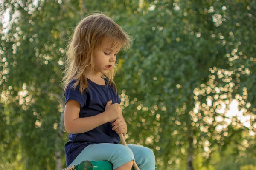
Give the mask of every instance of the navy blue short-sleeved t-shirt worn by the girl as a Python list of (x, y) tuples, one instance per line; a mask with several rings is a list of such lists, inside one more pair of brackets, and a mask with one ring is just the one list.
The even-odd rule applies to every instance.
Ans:
[[(79, 118), (95, 116), (104, 112), (105, 106), (110, 100), (112, 100), (112, 104), (120, 104), (121, 100), (113, 86), (108, 84), (108, 79), (104, 80), (106, 85), (99, 85), (87, 78), (88, 91), (84, 91), (83, 95), (79, 92), (79, 85), (75, 90), (73, 90), (71, 86), (76, 80), (71, 81), (65, 92), (65, 104), (68, 100), (78, 101), (81, 105)], [(69, 141), (65, 144), (67, 167), (76, 159), (79, 153), (90, 144), (118, 144), (120, 142), (119, 135), (112, 130), (112, 122), (100, 125), (88, 132), (69, 134), (68, 138)]]

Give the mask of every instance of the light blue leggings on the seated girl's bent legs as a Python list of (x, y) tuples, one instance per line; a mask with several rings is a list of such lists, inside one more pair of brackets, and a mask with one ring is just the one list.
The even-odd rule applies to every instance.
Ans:
[[(113, 164), (113, 170), (123, 164), (134, 160), (140, 170), (155, 170), (155, 156), (151, 149), (143, 146), (128, 144), (92, 144), (84, 150), (70, 164), (80, 164), (82, 161), (109, 161)], [(70, 167), (69, 166), (69, 167)]]

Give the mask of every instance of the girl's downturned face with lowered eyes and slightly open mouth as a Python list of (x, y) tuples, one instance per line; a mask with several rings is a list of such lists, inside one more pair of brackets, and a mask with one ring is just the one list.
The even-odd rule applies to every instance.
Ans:
[(116, 55), (120, 51), (121, 46), (117, 44), (110, 48), (113, 40), (106, 37), (102, 40), (102, 44), (93, 51), (94, 69), (96, 73), (107, 74), (116, 62)]

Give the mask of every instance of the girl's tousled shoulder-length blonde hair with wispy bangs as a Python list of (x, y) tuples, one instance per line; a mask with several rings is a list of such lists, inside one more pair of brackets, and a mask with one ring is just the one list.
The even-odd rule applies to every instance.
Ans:
[[(76, 25), (66, 49), (64, 77), (62, 79), (64, 92), (72, 80), (76, 80), (73, 88), (79, 85), (81, 94), (84, 90), (87, 91), (88, 82), (85, 70), (86, 68), (94, 70), (93, 51), (101, 45), (105, 37), (111, 37), (114, 40), (111, 48), (117, 44), (125, 50), (130, 48), (131, 37), (105, 14), (90, 14)], [(103, 78), (108, 79), (108, 84), (112, 85), (117, 93), (116, 84), (113, 82), (115, 73), (116, 65), (108, 71), (108, 74), (104, 74)]]

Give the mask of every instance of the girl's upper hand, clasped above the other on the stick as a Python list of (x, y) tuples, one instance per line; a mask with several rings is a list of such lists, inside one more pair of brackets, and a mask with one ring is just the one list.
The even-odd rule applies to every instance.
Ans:
[(114, 122), (117, 118), (122, 116), (122, 111), (119, 104), (111, 104), (112, 100), (108, 101), (105, 107), (105, 114), (107, 116), (108, 122)]

